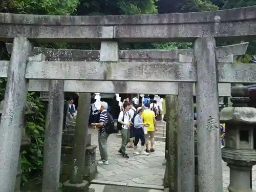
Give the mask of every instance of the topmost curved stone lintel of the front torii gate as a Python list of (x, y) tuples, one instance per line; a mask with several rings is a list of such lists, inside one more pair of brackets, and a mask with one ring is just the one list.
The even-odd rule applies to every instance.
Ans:
[(99, 42), (106, 38), (151, 42), (153, 39), (170, 41), (210, 35), (224, 38), (251, 37), (256, 34), (255, 12), (256, 7), (252, 6), (157, 15), (51, 16), (1, 13), (0, 39), (9, 40), (18, 34), (41, 42)]

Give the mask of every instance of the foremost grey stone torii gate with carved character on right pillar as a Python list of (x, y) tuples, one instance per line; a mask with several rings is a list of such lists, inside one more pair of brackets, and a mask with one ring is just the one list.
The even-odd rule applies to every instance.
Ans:
[[(83, 84), (88, 81), (111, 81), (114, 93), (129, 93), (130, 84), (139, 90), (138, 82), (144, 82), (148, 93), (158, 93), (152, 87), (164, 87), (175, 82), (179, 102), (179, 129), (187, 127), (193, 135), (193, 83), (197, 83), (198, 110), (198, 169), (199, 191), (221, 191), (222, 168), (218, 116), (219, 83), (255, 83), (256, 67), (253, 64), (216, 61), (215, 38), (255, 37), (256, 7), (241, 9), (129, 16), (42, 16), (0, 14), (0, 39), (13, 39), (10, 62), (1, 62), (2, 73), (7, 76), (5, 111), (1, 119), (0, 136), (0, 184), (4, 191), (14, 189), (16, 167), (20, 147), (20, 124), (28, 91), (27, 79), (50, 79), (52, 108), (49, 109), (47, 126), (62, 124), (57, 105), (64, 88), (76, 92), (94, 92)], [(42, 27), (43, 25), (43, 27)], [(54, 27), (53, 27), (54, 26)], [(46, 35), (47, 34), (47, 35)], [(138, 42), (156, 40), (196, 39), (193, 62), (119, 62), (117, 41)], [(30, 40), (28, 40), (30, 39)], [(28, 61), (32, 51), (31, 40), (44, 42), (95, 42), (101, 41), (100, 61)], [(217, 65), (218, 64), (218, 65)], [(51, 69), (49, 71), (49, 69)], [(64, 83), (65, 80), (65, 83)], [(69, 81), (67, 83), (67, 81)], [(147, 82), (147, 84), (146, 84)], [(72, 85), (72, 86), (71, 86)], [(77, 91), (80, 89), (80, 91)], [(99, 86), (95, 92), (106, 92)], [(162, 89), (162, 88), (161, 88)], [(166, 91), (169, 87), (166, 88)], [(136, 92), (138, 93), (138, 91)], [(168, 94), (168, 93), (167, 93)], [(193, 102), (192, 102), (193, 103)], [(52, 116), (51, 116), (52, 115)], [(55, 122), (54, 122), (55, 121)], [(182, 122), (182, 123), (180, 123)], [(59, 143), (56, 143), (58, 148)], [(187, 150), (190, 150), (189, 146)], [(186, 150), (182, 159), (192, 162)], [(60, 154), (60, 152), (59, 152)], [(191, 152), (189, 153), (191, 154)], [(56, 157), (57, 163), (60, 157)], [(184, 165), (185, 166), (185, 165)], [(58, 168), (58, 167), (56, 167)], [(178, 167), (182, 173), (187, 167)], [(187, 169), (186, 169), (187, 170)], [(214, 177), (212, 177), (214, 176)], [(194, 191), (194, 174), (189, 183), (178, 184), (179, 191)], [(53, 178), (54, 180), (56, 178)], [(81, 186), (83, 183), (80, 183)], [(56, 186), (43, 191), (57, 191)], [(75, 184), (67, 188), (78, 187)], [(191, 188), (192, 187), (192, 188)], [(65, 188), (65, 186), (64, 186)]]

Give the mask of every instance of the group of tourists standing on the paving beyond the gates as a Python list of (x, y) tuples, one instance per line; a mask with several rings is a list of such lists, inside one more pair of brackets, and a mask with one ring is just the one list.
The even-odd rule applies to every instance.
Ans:
[[(93, 114), (95, 119), (92, 123), (93, 127), (98, 128), (98, 143), (100, 151), (99, 164), (109, 164), (107, 140), (110, 134), (121, 132), (122, 141), (118, 152), (124, 157), (129, 158), (126, 148), (133, 148), (136, 155), (149, 155), (155, 151), (154, 137), (157, 131), (156, 116), (159, 115), (159, 109), (155, 102), (143, 103), (143, 106), (134, 106), (134, 102), (130, 102), (126, 98), (121, 106), (121, 110), (117, 120), (117, 126), (112, 115), (109, 113), (109, 105), (101, 102), (100, 113)], [(98, 117), (98, 121), (96, 120)], [(139, 141), (141, 147), (138, 147)]]

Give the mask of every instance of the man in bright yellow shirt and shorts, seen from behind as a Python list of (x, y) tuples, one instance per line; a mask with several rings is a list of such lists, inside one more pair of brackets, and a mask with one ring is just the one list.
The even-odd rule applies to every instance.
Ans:
[[(154, 137), (157, 131), (156, 118), (154, 111), (150, 110), (150, 103), (145, 103), (145, 110), (142, 113), (142, 119), (144, 123), (148, 123), (149, 126), (146, 127), (147, 134), (145, 135), (146, 140), (146, 152), (154, 152)], [(149, 142), (151, 141), (151, 147), (149, 147)]]

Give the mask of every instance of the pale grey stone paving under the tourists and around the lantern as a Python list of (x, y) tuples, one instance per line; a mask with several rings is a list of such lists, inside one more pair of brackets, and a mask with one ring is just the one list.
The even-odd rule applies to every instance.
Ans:
[[(92, 143), (98, 145), (98, 132), (92, 133)], [(94, 182), (99, 184), (117, 184), (127, 186), (152, 185), (153, 188), (161, 189), (163, 184), (165, 166), (164, 150), (165, 142), (156, 141), (156, 152), (149, 156), (135, 155), (129, 148), (127, 153), (130, 159), (124, 159), (119, 153), (121, 137), (113, 134), (108, 139), (109, 165), (98, 166), (98, 176)], [(100, 159), (97, 148), (97, 160)], [(223, 187), (227, 190), (229, 184), (229, 167), (223, 161)], [(252, 170), (252, 189), (256, 190), (256, 166)], [(114, 190), (113, 190), (114, 191)], [(100, 192), (100, 191), (99, 191)], [(105, 192), (105, 191), (104, 191)], [(143, 191), (144, 192), (144, 191)]]

